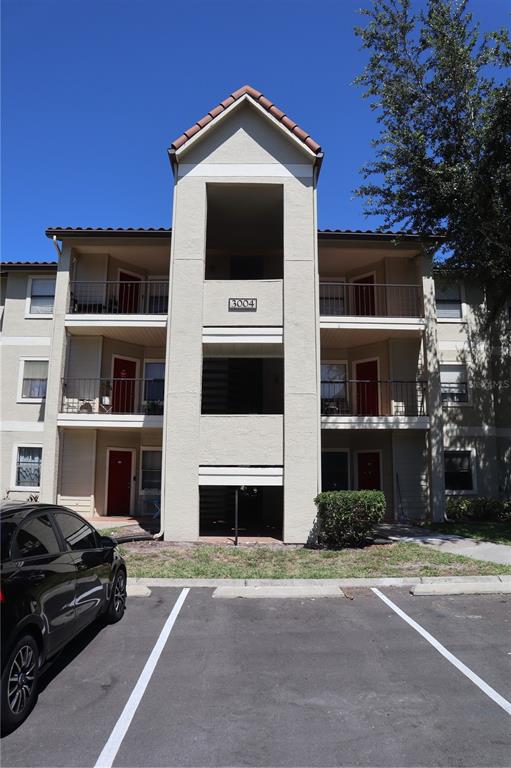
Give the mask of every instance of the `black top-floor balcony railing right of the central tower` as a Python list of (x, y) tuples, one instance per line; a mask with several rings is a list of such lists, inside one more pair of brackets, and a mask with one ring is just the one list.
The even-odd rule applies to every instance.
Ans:
[(331, 317), (423, 317), (422, 291), (418, 285), (322, 281), (319, 313)]

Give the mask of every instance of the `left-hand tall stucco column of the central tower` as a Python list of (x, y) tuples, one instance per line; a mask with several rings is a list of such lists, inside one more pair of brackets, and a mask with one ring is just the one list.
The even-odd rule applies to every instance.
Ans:
[(180, 179), (174, 221), (164, 414), (164, 531), (173, 541), (199, 535), (199, 442), (206, 184)]

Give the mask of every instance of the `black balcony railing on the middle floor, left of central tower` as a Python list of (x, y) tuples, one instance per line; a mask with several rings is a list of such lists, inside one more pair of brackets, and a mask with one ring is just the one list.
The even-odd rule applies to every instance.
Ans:
[(163, 413), (163, 379), (63, 379), (61, 413)]

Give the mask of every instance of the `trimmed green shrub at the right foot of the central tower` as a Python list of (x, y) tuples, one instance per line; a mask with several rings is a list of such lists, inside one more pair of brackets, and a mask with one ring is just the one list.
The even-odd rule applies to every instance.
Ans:
[(325, 491), (314, 502), (317, 542), (329, 549), (361, 544), (385, 516), (381, 491)]

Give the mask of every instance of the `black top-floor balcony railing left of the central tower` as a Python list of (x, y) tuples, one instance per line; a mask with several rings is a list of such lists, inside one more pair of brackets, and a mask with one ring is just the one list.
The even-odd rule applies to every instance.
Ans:
[(163, 315), (169, 303), (168, 280), (72, 281), (69, 311), (80, 315)]

